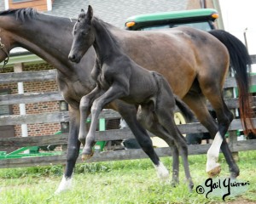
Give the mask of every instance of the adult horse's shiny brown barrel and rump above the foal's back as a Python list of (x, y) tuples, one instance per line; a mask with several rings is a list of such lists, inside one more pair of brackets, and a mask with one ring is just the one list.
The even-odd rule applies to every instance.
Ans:
[(113, 35), (138, 65), (165, 76), (180, 98), (189, 92), (196, 78), (221, 73), (215, 77), (224, 82), (229, 54), (222, 42), (206, 31), (177, 27), (159, 31), (114, 30)]

